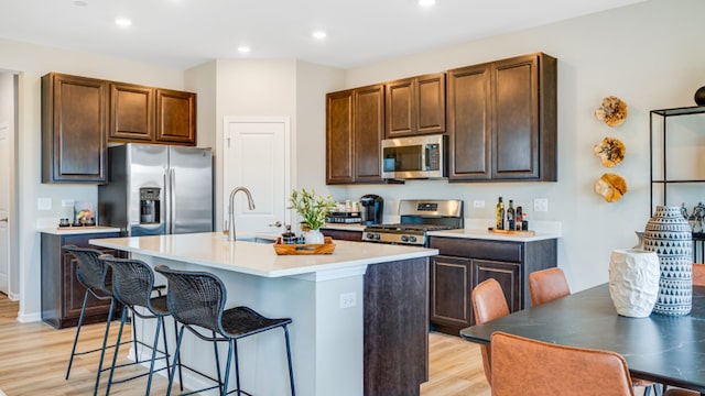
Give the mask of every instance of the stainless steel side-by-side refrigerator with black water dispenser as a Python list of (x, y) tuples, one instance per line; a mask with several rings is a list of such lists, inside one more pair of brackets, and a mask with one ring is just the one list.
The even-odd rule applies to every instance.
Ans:
[(213, 231), (210, 148), (128, 143), (108, 148), (108, 164), (101, 226), (129, 237)]

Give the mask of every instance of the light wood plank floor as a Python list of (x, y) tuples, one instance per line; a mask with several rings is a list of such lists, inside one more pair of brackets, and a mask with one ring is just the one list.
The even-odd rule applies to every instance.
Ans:
[[(75, 358), (70, 378), (64, 380), (75, 328), (56, 330), (43, 322), (20, 323), (17, 302), (0, 294), (0, 389), (8, 396), (91, 395), (99, 353)], [(118, 326), (111, 328), (115, 339)], [(83, 327), (79, 348), (99, 345), (104, 330), (104, 324)], [(421, 395), (490, 395), (476, 344), (432, 333), (430, 350), (430, 381), (421, 386)], [(105, 394), (106, 381), (107, 373), (101, 378), (99, 394)], [(135, 380), (113, 385), (110, 393), (143, 395), (145, 384), (147, 378)], [(152, 395), (165, 394), (166, 385), (166, 378), (155, 375)]]

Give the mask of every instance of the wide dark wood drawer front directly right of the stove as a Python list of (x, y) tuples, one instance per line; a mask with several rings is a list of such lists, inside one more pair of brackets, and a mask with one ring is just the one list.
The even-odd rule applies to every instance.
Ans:
[(431, 248), (443, 255), (521, 263), (523, 243), (432, 237)]

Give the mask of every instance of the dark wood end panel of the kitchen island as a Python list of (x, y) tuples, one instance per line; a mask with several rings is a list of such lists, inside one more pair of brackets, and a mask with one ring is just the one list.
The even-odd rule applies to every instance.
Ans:
[(429, 258), (369, 265), (365, 395), (419, 395), (429, 378)]

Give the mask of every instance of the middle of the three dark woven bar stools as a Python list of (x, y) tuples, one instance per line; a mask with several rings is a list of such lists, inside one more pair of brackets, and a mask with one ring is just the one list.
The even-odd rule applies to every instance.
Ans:
[[(108, 378), (108, 387), (106, 389), (106, 395), (110, 394), (110, 387), (112, 384), (123, 383), (127, 381), (131, 381), (134, 378), (142, 377), (144, 375), (149, 375), (149, 380), (147, 382), (147, 391), (145, 395), (150, 394), (150, 389), (152, 386), (152, 376), (154, 374), (154, 362), (156, 361), (156, 353), (161, 353), (162, 356), (159, 359), (164, 359), (166, 362), (166, 366), (160, 370), (166, 369), (170, 372), (169, 364), (169, 346), (166, 342), (166, 326), (164, 324), (164, 317), (171, 316), (171, 312), (166, 305), (166, 296), (162, 296), (161, 294), (156, 297), (152, 297), (152, 293), (154, 292), (154, 273), (152, 268), (147, 265), (144, 262), (139, 260), (129, 260), (129, 258), (116, 258), (109, 254), (104, 254), (100, 257), (100, 261), (104, 262), (112, 270), (112, 295), (115, 298), (122, 304), (122, 315), (120, 318), (120, 331), (118, 332), (118, 341), (117, 346), (115, 349), (115, 355), (112, 356), (112, 365), (110, 366), (110, 376)], [(147, 312), (140, 312), (137, 310), (137, 307), (144, 308)], [(116, 367), (122, 367), (133, 364), (143, 363), (145, 361), (140, 361), (139, 351), (134, 350), (134, 362), (126, 363), (122, 365), (116, 365), (118, 359), (118, 351), (120, 345), (120, 340), (122, 338), (122, 329), (124, 327), (124, 322), (128, 317), (128, 310), (132, 312), (133, 317), (139, 317), (142, 319), (156, 319), (156, 326), (154, 331), (154, 338), (152, 345), (148, 345), (152, 349), (152, 355), (150, 359), (150, 371), (149, 373), (142, 373), (135, 376), (131, 376), (120, 381), (113, 381), (113, 374)], [(159, 339), (160, 339), (160, 330), (162, 331), (164, 339), (164, 351), (159, 351)], [(174, 322), (174, 333), (176, 333), (176, 322)], [(144, 344), (147, 345), (147, 344)], [(158, 370), (159, 371), (159, 370)], [(183, 385), (182, 385), (183, 389)]]

